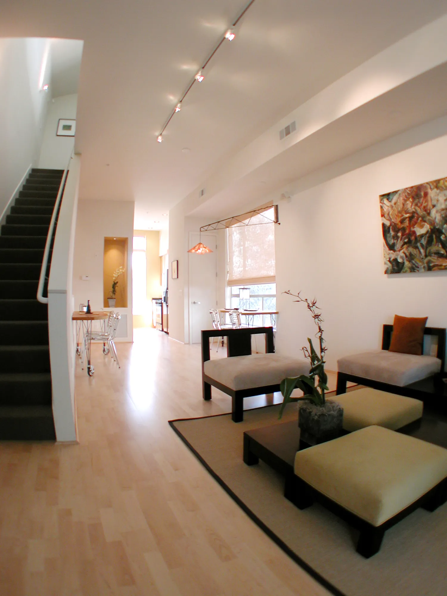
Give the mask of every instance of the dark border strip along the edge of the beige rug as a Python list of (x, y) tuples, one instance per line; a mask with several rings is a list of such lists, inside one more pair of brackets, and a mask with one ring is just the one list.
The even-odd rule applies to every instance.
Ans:
[[(272, 403), (267, 406), (261, 406), (260, 408), (250, 408), (250, 409), (272, 408), (273, 406), (276, 406), (276, 405), (280, 405), (280, 404)], [(278, 545), (278, 547), (281, 548), (281, 550), (283, 550), (285, 552), (285, 554), (287, 554), (293, 561), (295, 561), (295, 563), (297, 563), (302, 569), (304, 569), (305, 572), (309, 573), (309, 575), (312, 576), (313, 579), (316, 579), (316, 581), (319, 584), (321, 584), (324, 588), (326, 588), (328, 591), (330, 591), (331, 594), (334, 594), (334, 596), (346, 596), (346, 594), (344, 594), (344, 592), (341, 592), (338, 588), (336, 588), (336, 586), (334, 586), (327, 579), (325, 579), (322, 575), (320, 575), (318, 573), (318, 571), (315, 571), (315, 569), (313, 569), (313, 567), (311, 567), (309, 565), (309, 563), (306, 563), (305, 560), (303, 560), (301, 557), (299, 557), (299, 555), (297, 555), (296, 552), (291, 550), (291, 548), (288, 547), (287, 544), (285, 544), (285, 542), (282, 541), (281, 538), (275, 534), (275, 532), (273, 532), (268, 526), (266, 526), (266, 524), (264, 522), (262, 522), (262, 520), (260, 520), (259, 517), (257, 517), (257, 515), (255, 513), (253, 513), (253, 511), (250, 509), (250, 507), (247, 507), (247, 505), (243, 501), (241, 501), (241, 499), (231, 490), (231, 488), (229, 488), (229, 486), (225, 484), (224, 480), (222, 480), (222, 478), (218, 474), (216, 474), (216, 472), (207, 464), (207, 462), (203, 459), (203, 457), (201, 457), (201, 455), (198, 454), (197, 451), (195, 451), (195, 449), (191, 445), (191, 443), (187, 439), (185, 439), (185, 437), (182, 435), (182, 433), (179, 431), (179, 429), (176, 429), (176, 427), (174, 426), (174, 424), (176, 422), (184, 422), (184, 421), (188, 421), (188, 420), (201, 420), (201, 418), (216, 418), (218, 416), (229, 416), (229, 415), (231, 415), (231, 412), (226, 412), (224, 414), (215, 414), (212, 416), (197, 416), (194, 418), (176, 418), (176, 420), (168, 420), (168, 423), (169, 423), (169, 426), (172, 428), (172, 430), (177, 434), (177, 436), (179, 436), (180, 439), (185, 443), (185, 445), (188, 447), (188, 449), (190, 449), (190, 451), (193, 452), (195, 457), (197, 457), (198, 461), (200, 461), (200, 463), (203, 465), (203, 467), (206, 468), (206, 470), (211, 474), (211, 476), (219, 483), (219, 485), (222, 486), (224, 491), (226, 493), (228, 493), (229, 496), (231, 496), (233, 501), (235, 501), (239, 505), (239, 507), (243, 511), (245, 511), (247, 516), (249, 516), (250, 519), (253, 520), (253, 522), (256, 523), (256, 525), (259, 526), (260, 529), (263, 532), (265, 532), (266, 535), (269, 538), (271, 538), (272, 541), (274, 541), (275, 544)]]

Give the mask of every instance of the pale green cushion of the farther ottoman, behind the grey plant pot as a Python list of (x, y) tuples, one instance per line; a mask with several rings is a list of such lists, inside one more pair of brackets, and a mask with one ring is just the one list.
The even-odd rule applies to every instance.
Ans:
[(424, 408), (420, 399), (405, 398), (371, 387), (342, 393), (334, 401), (343, 407), (343, 429), (349, 432), (373, 424), (398, 430), (420, 420)]

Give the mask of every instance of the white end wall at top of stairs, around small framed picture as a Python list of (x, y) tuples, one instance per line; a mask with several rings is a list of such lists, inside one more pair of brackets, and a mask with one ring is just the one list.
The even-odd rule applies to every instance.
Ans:
[(51, 100), (46, 116), (39, 167), (64, 170), (75, 145), (74, 136), (57, 136), (60, 118), (76, 120), (77, 94)]

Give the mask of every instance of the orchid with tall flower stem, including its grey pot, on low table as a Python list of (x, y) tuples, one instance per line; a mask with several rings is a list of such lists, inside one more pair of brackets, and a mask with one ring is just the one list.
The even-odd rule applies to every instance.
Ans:
[[(311, 311), (313, 321), (318, 327), (315, 337), (319, 342), (319, 354), (316, 353), (312, 340), (308, 337), (309, 348), (303, 347), (302, 350), (305, 358), (311, 362), (309, 375), (302, 374), (299, 377), (284, 378), (281, 381), (281, 393), (284, 399), (279, 417), (283, 416), (285, 405), (288, 402), (301, 402), (298, 415), (298, 426), (301, 429), (300, 439), (314, 445), (340, 433), (343, 428), (343, 408), (339, 403), (325, 398), (325, 392), (329, 389), (327, 374), (324, 371), (324, 354), (327, 348), (324, 345), (321, 327), (323, 319), (316, 300), (310, 302), (308, 299), (303, 299), (300, 292), (292, 294), (291, 291), (287, 291), (285, 294), (294, 296), (297, 299), (294, 302), (304, 302)], [(304, 395), (292, 398), (291, 393), (294, 389), (301, 389)]]

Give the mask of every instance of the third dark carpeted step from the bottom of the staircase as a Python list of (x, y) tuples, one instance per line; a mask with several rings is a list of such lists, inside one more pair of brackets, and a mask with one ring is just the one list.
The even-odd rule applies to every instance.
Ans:
[[(22, 338), (22, 341), (26, 338)], [(1, 346), (0, 373), (49, 373), (49, 346)]]

